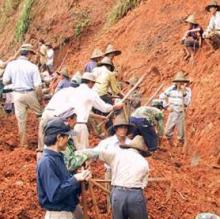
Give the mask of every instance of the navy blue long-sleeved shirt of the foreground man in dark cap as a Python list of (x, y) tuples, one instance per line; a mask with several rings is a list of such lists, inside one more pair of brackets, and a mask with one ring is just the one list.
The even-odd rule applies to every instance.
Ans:
[(62, 153), (45, 149), (37, 165), (37, 191), (46, 210), (73, 212), (76, 208), (80, 183), (67, 171)]

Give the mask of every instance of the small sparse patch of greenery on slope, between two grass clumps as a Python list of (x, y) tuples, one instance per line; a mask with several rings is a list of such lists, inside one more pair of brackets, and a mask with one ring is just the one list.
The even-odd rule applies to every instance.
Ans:
[(90, 22), (88, 11), (81, 11), (76, 14), (76, 24), (74, 28), (75, 36), (79, 37), (81, 33), (88, 27)]

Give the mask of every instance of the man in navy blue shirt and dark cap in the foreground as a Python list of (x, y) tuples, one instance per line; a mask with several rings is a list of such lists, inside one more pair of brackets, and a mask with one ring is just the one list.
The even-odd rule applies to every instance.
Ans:
[(80, 182), (91, 178), (89, 170), (71, 175), (64, 163), (71, 129), (60, 119), (53, 119), (45, 127), (47, 148), (37, 164), (37, 193), (40, 206), (46, 210), (45, 219), (83, 218), (79, 207)]

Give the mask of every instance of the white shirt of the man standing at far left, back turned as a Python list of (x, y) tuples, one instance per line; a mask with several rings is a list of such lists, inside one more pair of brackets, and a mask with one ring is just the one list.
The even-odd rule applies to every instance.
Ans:
[(4, 75), (3, 83), (12, 83), (14, 90), (34, 89), (41, 85), (41, 77), (38, 67), (20, 56), (18, 59), (8, 63)]

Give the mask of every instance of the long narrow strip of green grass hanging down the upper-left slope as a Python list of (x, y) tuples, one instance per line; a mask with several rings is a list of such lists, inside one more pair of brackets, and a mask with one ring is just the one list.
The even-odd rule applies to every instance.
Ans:
[(34, 0), (24, 0), (23, 9), (16, 24), (15, 37), (17, 41), (22, 41), (24, 34), (28, 31), (30, 24), (30, 12), (33, 3)]

